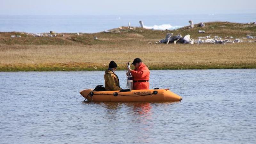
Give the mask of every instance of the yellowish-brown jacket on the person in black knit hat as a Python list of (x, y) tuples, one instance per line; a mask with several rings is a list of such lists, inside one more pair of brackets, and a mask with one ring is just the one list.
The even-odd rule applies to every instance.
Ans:
[(111, 70), (106, 70), (105, 75), (105, 89), (106, 91), (117, 91), (117, 90), (122, 90), (119, 86), (119, 79), (118, 76)]

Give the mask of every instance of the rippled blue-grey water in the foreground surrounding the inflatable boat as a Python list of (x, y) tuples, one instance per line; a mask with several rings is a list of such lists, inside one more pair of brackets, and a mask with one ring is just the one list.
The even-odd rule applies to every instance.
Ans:
[(103, 71), (0, 72), (0, 143), (256, 143), (255, 69), (150, 72), (183, 101), (83, 102)]

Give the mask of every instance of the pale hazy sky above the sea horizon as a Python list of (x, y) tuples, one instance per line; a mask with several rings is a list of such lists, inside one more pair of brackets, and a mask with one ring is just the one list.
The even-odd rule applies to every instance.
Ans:
[(0, 15), (256, 13), (256, 0), (0, 0)]

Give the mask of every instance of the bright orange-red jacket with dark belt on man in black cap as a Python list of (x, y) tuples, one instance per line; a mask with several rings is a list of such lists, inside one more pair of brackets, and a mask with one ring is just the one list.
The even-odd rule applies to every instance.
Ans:
[[(137, 68), (131, 71), (131, 74), (133, 76), (134, 81), (141, 81), (141, 80), (149, 80), (149, 69), (144, 64), (141, 63), (141, 65)], [(134, 90), (142, 90), (142, 89), (149, 89), (149, 82), (133, 82), (133, 89)]]

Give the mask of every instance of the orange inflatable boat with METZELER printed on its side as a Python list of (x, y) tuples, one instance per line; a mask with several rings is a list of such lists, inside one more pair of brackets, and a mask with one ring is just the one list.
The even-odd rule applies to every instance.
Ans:
[(182, 97), (169, 89), (95, 91), (82, 90), (80, 94), (88, 101), (181, 101)]

